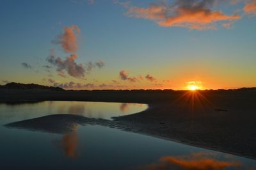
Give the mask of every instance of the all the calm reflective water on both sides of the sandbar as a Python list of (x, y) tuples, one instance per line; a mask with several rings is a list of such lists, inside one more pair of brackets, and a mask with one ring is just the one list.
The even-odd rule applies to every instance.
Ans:
[[(254, 169), (256, 161), (99, 125), (72, 123), (74, 132), (54, 134), (4, 127), (51, 114), (111, 121), (147, 109), (143, 104), (40, 102), (0, 104), (0, 169)], [(49, 117), (51, 118), (51, 116)], [(41, 118), (37, 123), (40, 123)], [(44, 122), (45, 128), (54, 122)], [(29, 121), (29, 126), (36, 126)]]

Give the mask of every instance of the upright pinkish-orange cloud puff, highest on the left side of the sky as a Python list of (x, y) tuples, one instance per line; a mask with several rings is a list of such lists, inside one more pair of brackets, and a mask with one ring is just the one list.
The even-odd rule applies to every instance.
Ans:
[(56, 36), (52, 43), (61, 45), (62, 49), (68, 53), (74, 53), (78, 49), (77, 35), (80, 33), (78, 26), (70, 26), (63, 28), (64, 33)]

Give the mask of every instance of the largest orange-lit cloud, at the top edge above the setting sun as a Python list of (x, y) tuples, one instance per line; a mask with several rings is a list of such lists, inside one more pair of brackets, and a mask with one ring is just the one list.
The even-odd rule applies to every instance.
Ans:
[(241, 19), (240, 15), (226, 15), (220, 10), (211, 10), (216, 0), (177, 0), (172, 4), (166, 1), (152, 3), (146, 8), (123, 5), (128, 8), (126, 15), (138, 19), (153, 20), (163, 27), (186, 27), (188, 29), (216, 29), (218, 22)]

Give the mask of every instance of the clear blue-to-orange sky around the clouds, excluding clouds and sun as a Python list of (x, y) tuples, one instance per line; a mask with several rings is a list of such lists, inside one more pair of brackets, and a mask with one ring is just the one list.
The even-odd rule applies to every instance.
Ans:
[[(145, 13), (144, 18), (135, 16), (138, 13), (127, 15), (131, 6), (147, 9), (150, 3), (157, 1), (130, 1), (129, 7), (97, 0), (1, 1), (0, 81), (52, 86), (51, 79), (56, 86), (76, 82), (93, 84), (93, 88), (105, 84), (102, 88), (115, 89), (184, 89), (189, 81), (202, 82), (202, 88), (256, 86), (256, 17), (243, 11), (253, 1), (212, 5), (212, 11), (238, 13), (241, 19), (232, 21), (228, 29), (221, 27), (222, 22), (215, 22), (215, 29), (204, 30), (159, 26), (155, 19), (145, 18)], [(63, 33), (63, 27), (70, 26), (81, 29), (76, 63), (85, 69), (90, 61), (105, 63), (84, 77), (68, 73), (60, 77), (56, 67), (46, 60), (51, 49), (56, 58), (70, 55), (51, 43)], [(21, 63), (28, 63), (31, 68), (24, 68)], [(51, 72), (46, 72), (44, 65), (52, 66)], [(122, 70), (127, 77), (143, 79), (120, 79)], [(155, 81), (146, 79), (147, 74)]]

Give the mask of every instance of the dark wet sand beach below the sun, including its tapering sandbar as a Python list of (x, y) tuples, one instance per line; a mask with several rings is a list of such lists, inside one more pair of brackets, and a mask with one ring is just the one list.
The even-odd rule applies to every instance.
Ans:
[[(120, 116), (114, 121), (65, 115), (10, 124), (9, 127), (44, 129), (44, 122), (61, 119), (64, 127), (97, 124), (163, 137), (180, 143), (256, 159), (256, 91), (31, 91), (0, 90), (0, 102), (17, 104), (44, 100), (131, 102), (148, 104), (146, 111)], [(53, 122), (54, 121), (54, 122)], [(65, 124), (66, 122), (66, 124)], [(51, 124), (52, 124), (51, 123)], [(49, 124), (48, 124), (49, 125)], [(52, 127), (56, 133), (68, 127)]]

